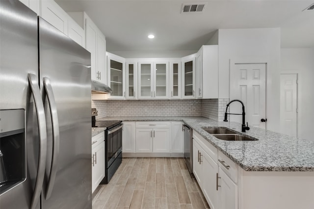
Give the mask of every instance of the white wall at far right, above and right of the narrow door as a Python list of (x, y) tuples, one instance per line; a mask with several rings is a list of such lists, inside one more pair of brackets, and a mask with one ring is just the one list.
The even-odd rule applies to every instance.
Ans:
[(298, 137), (314, 141), (314, 48), (282, 48), (281, 70), (298, 73)]

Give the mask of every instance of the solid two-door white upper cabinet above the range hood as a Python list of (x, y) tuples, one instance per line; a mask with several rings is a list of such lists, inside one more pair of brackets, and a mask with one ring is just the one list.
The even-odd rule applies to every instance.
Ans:
[(105, 36), (95, 23), (85, 14), (86, 49), (91, 53), (91, 78), (106, 84)]

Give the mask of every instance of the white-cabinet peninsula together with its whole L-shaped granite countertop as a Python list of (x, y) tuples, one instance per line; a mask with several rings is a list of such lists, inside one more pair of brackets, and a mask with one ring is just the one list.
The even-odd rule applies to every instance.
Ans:
[[(193, 158), (193, 173), (211, 208), (216, 208), (217, 205), (220, 209), (313, 209), (314, 207), (313, 141), (296, 139), (256, 127), (250, 127), (245, 135), (259, 140), (221, 140), (202, 128), (226, 127), (243, 134), (241, 124), (217, 122), (205, 117), (105, 117), (101, 119), (119, 119), (134, 123), (136, 121), (183, 121), (190, 126), (193, 129), (193, 147), (200, 147), (193, 154), (193, 157), (196, 156), (195, 159)], [(201, 155), (197, 155), (200, 153)], [(205, 168), (206, 162), (212, 162), (211, 169)], [(203, 167), (195, 170), (198, 169), (198, 165)], [(207, 172), (202, 174), (202, 169)], [(197, 172), (200, 172), (200, 175)], [(222, 202), (227, 205), (222, 206)]]

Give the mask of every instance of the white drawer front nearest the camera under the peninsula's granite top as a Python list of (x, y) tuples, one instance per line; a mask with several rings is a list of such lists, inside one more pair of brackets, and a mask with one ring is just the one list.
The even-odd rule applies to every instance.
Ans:
[[(230, 160), (222, 152), (218, 151), (219, 167), (235, 182), (237, 183), (237, 164)], [(227, 168), (228, 167), (228, 168)]]

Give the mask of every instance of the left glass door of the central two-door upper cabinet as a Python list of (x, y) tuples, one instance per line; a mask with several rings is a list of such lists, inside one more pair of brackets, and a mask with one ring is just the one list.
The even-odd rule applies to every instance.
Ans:
[(153, 97), (153, 64), (152, 63), (138, 63), (138, 98), (152, 98)]

